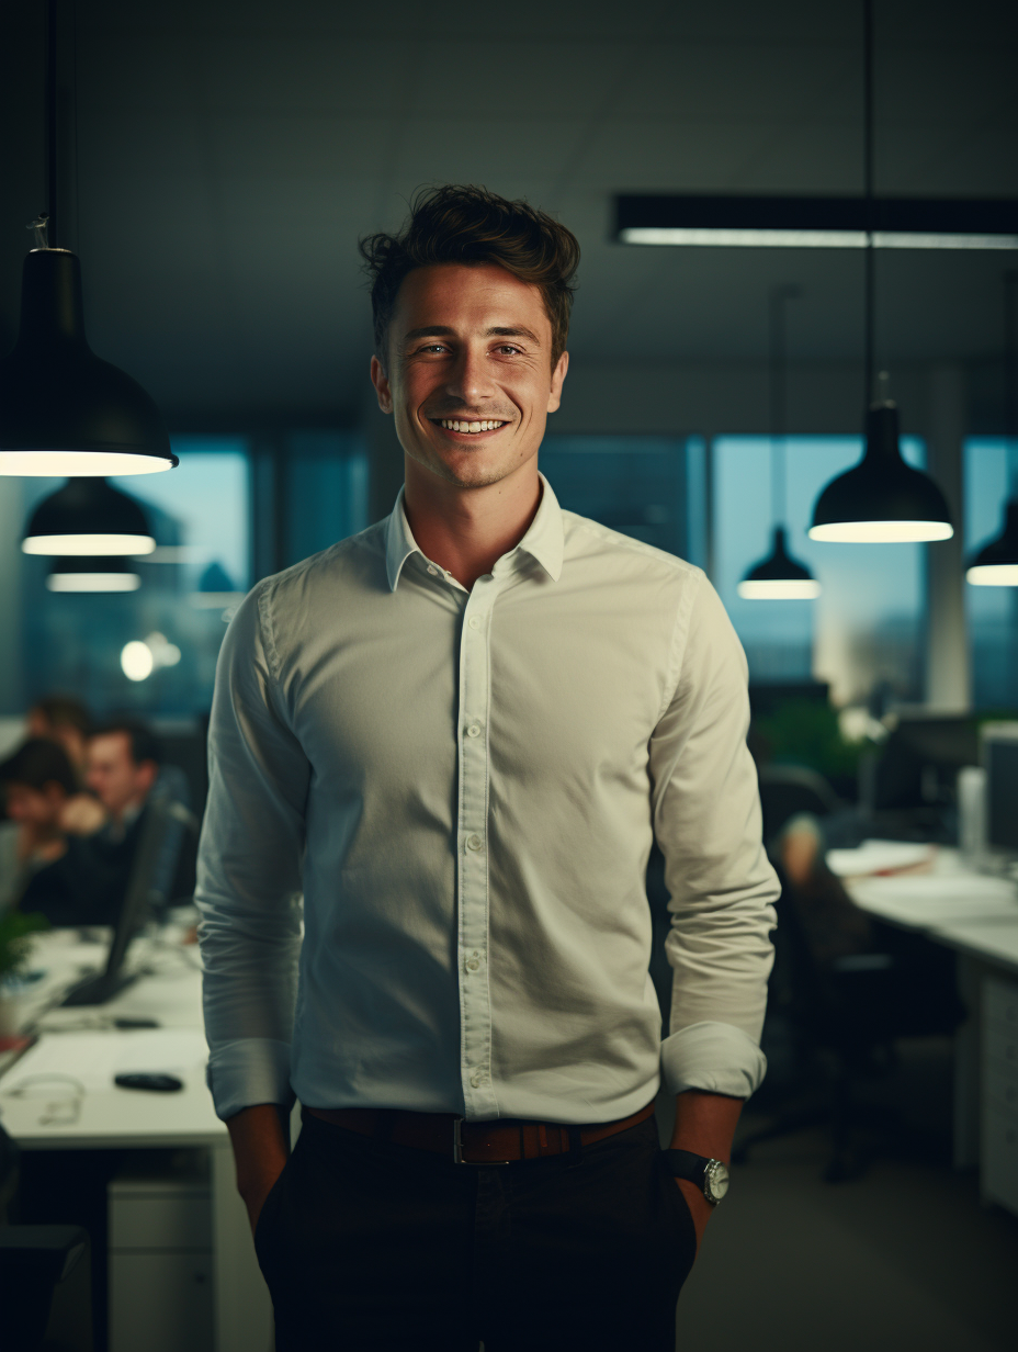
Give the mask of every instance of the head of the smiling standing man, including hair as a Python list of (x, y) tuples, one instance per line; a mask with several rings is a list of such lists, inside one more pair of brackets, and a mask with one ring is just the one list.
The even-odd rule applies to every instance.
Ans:
[(530, 464), (569, 365), (576, 237), (526, 201), (447, 185), (360, 247), (372, 381), (408, 460), (464, 488)]

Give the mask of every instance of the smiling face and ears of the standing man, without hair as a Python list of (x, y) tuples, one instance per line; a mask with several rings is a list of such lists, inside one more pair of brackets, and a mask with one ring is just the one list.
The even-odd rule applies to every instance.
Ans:
[[(435, 264), (404, 279), (388, 370), (373, 357), (372, 380), (412, 461), (445, 483), (483, 488), (537, 456), (568, 365), (562, 353), (552, 368), (537, 287), (496, 264)], [(484, 430), (468, 430), (479, 423)]]

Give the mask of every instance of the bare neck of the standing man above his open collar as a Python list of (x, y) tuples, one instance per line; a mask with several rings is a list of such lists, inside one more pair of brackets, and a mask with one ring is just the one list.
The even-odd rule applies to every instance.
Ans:
[(541, 502), (537, 457), (483, 488), (447, 484), (410, 457), (406, 476), (403, 504), (414, 539), (468, 591), (515, 549)]

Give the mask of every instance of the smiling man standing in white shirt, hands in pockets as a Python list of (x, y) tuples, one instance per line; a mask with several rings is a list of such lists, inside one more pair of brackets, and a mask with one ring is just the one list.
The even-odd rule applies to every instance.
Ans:
[(538, 475), (569, 231), (447, 187), (362, 251), (406, 485), (233, 621), (196, 896), (277, 1347), (671, 1348), (707, 1161), (764, 1069), (776, 884), (745, 660), (698, 569)]

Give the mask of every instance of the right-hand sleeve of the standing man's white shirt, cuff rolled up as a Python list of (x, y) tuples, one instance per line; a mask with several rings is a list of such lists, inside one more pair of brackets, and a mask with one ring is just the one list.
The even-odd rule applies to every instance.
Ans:
[(673, 671), (675, 688), (650, 741), (654, 834), (672, 913), (662, 1072), (676, 1094), (748, 1098), (767, 1069), (760, 1033), (780, 888), (761, 842), (746, 746), (746, 658), (703, 575), (680, 607)]

